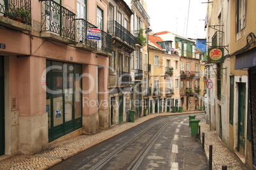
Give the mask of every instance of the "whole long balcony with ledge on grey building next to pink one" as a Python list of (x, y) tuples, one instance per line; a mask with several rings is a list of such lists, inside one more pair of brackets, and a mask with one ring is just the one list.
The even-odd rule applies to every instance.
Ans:
[(135, 37), (117, 21), (108, 21), (108, 34), (113, 36), (113, 39), (116, 40), (116, 43), (120, 43), (122, 48), (134, 51)]

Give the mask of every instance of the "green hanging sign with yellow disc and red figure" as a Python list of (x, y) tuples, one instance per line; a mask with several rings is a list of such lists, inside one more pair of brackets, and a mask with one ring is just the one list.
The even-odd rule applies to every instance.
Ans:
[(224, 48), (208, 48), (208, 63), (223, 63)]

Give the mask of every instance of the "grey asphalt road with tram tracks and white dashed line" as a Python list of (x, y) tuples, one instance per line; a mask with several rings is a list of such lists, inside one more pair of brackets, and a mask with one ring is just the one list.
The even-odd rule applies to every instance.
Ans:
[[(204, 122), (205, 114), (195, 114)], [(208, 169), (188, 115), (155, 117), (61, 162), (52, 169)]]

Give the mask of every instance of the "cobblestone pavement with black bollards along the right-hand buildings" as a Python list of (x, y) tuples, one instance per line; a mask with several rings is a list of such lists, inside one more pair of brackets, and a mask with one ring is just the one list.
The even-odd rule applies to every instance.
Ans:
[(222, 165), (225, 165), (227, 166), (227, 169), (232, 170), (249, 169), (243, 162), (241, 162), (234, 152), (225, 146), (224, 142), (218, 137), (216, 131), (210, 130), (209, 124), (200, 122), (199, 126), (201, 126), (201, 133), (204, 133), (204, 152), (206, 153), (208, 160), (209, 148), (210, 145), (213, 145), (213, 169), (222, 169)]

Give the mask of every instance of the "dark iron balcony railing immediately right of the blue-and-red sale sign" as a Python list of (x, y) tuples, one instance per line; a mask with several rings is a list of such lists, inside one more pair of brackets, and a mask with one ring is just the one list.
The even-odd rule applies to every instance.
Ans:
[(97, 42), (97, 49), (105, 51), (107, 53), (111, 53), (111, 42), (112, 37), (110, 36), (110, 34), (101, 30), (101, 40)]

